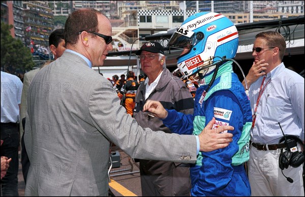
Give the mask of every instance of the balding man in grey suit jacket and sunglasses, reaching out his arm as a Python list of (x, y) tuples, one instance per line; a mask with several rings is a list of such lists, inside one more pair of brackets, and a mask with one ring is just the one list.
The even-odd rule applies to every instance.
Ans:
[(112, 50), (111, 24), (94, 9), (65, 24), (66, 51), (33, 79), (27, 96), (24, 143), (31, 161), (25, 195), (108, 194), (110, 142), (133, 158), (195, 162), (200, 151), (224, 148), (231, 126), (200, 136), (143, 129), (120, 106), (112, 84), (92, 66)]

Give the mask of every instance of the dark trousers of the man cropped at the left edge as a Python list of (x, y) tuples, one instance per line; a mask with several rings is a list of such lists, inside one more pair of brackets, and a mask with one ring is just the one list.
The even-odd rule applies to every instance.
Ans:
[(18, 196), (18, 146), (19, 126), (17, 123), (1, 123), (1, 156), (12, 158), (7, 174), (1, 179), (3, 196)]

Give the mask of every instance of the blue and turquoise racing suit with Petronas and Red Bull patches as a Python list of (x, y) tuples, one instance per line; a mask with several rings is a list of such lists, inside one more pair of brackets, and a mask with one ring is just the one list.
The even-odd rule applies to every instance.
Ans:
[[(205, 125), (216, 118), (213, 127), (231, 125), (233, 142), (211, 152), (199, 152), (196, 164), (191, 167), (193, 196), (250, 196), (251, 189), (244, 163), (249, 159), (252, 113), (248, 96), (231, 62), (219, 67), (216, 79), (203, 98), (202, 93), (212, 78), (212, 73), (201, 80), (196, 91), (194, 114), (168, 110), (163, 119), (173, 133), (199, 135)], [(200, 102), (200, 98), (202, 102)]]

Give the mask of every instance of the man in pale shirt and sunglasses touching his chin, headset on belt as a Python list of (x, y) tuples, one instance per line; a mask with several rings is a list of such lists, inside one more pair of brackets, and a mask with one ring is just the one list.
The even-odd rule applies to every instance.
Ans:
[[(285, 68), (286, 42), (279, 32), (261, 32), (255, 38), (254, 63), (246, 77), (253, 114), (248, 161), (251, 192), (254, 196), (304, 196), (304, 155), (295, 151), (287, 168), (279, 165), (287, 147), (282, 129), (285, 135), (304, 141), (304, 78)], [(303, 151), (300, 142), (297, 148)], [(300, 165), (290, 162), (296, 154), (302, 155), (294, 159)]]

